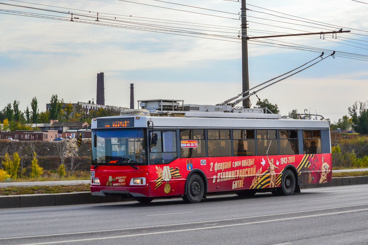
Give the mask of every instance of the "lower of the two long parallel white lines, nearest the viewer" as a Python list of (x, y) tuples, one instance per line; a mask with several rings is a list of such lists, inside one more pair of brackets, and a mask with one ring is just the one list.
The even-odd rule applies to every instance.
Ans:
[(144, 236), (144, 235), (158, 235), (158, 234), (178, 233), (178, 232), (183, 232), (183, 231), (209, 230), (209, 229), (214, 229), (214, 228), (217, 229), (217, 228), (225, 228), (225, 227), (245, 226), (245, 225), (248, 225), (248, 224), (262, 224), (262, 223), (270, 223), (270, 222), (277, 222), (277, 221), (305, 219), (305, 218), (321, 217), (321, 216), (329, 216), (329, 215), (340, 215), (340, 214), (344, 214), (344, 213), (355, 213), (355, 212), (363, 212), (363, 211), (368, 211), (368, 208), (348, 210), (348, 211), (340, 211), (340, 212), (333, 212), (333, 213), (322, 213), (322, 214), (318, 214), (318, 215), (305, 215), (305, 216), (282, 218), (282, 219), (254, 221), (254, 222), (240, 223), (240, 224), (227, 224), (227, 225), (223, 225), (223, 226), (210, 226), (210, 227), (200, 227), (200, 228), (192, 228), (192, 229), (173, 230), (173, 231), (158, 231), (158, 232), (132, 234), (132, 235), (120, 235), (120, 236), (113, 236), (113, 237), (97, 237), (97, 238), (86, 238), (86, 239), (75, 239), (75, 240), (64, 240), (64, 241), (38, 242), (38, 243), (19, 244), (19, 245), (59, 244), (59, 243), (66, 243), (66, 242), (84, 242), (84, 241), (107, 240), (107, 239), (116, 239), (116, 238), (124, 238), (124, 237), (140, 237), (140, 236)]

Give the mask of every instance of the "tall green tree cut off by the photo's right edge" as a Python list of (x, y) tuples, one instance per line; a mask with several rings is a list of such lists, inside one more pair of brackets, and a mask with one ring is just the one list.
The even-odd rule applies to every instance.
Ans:
[(359, 111), (357, 101), (348, 108), (353, 129), (360, 134), (368, 134), (368, 103), (359, 101)]

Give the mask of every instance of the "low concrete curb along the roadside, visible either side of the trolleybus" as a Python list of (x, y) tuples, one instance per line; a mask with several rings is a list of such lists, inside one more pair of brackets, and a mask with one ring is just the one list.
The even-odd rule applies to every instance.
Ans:
[[(300, 185), (300, 188), (317, 188), (360, 184), (368, 184), (368, 176), (332, 178), (332, 181), (328, 183)], [(92, 196), (91, 192), (89, 191), (60, 194), (12, 195), (0, 196), (0, 208), (60, 206), (104, 202), (124, 202), (133, 200), (134, 198)]]

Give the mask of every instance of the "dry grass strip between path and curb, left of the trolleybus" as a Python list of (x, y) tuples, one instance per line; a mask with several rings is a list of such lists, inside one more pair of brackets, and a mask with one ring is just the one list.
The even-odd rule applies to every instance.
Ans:
[(81, 191), (91, 191), (90, 185), (10, 186), (0, 188), (0, 195), (55, 194)]

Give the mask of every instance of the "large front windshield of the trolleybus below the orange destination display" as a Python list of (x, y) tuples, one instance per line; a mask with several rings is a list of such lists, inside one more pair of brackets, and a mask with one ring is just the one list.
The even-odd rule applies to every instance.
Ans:
[(92, 163), (98, 165), (147, 165), (145, 129), (96, 130)]

